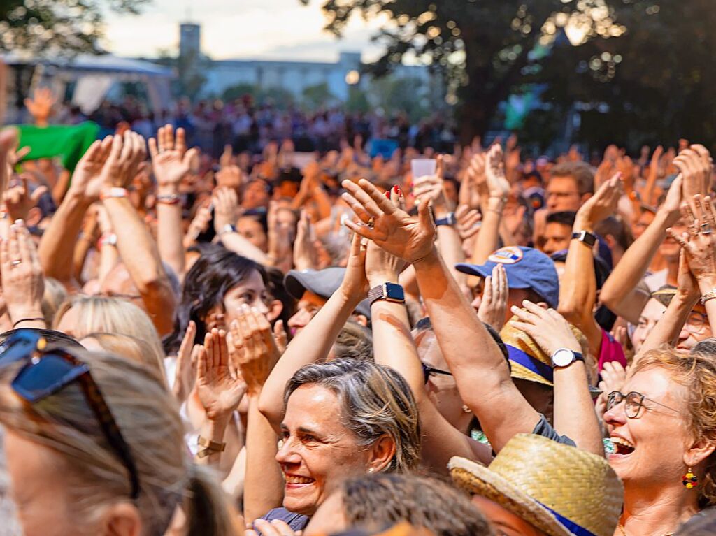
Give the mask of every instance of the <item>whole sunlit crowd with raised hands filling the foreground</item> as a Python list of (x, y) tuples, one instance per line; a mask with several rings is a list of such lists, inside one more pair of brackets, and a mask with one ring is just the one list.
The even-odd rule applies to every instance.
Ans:
[(1, 535), (716, 532), (703, 145), (213, 155), (53, 104), (0, 131)]

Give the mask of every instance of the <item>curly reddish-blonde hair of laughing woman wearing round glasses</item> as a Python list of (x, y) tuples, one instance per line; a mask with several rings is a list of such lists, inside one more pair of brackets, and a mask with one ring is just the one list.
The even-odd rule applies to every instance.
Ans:
[[(716, 361), (708, 354), (681, 354), (669, 346), (650, 350), (631, 374), (659, 367), (687, 387), (687, 429), (693, 437), (716, 445)], [(697, 488), (702, 505), (716, 505), (716, 454), (705, 460), (704, 480)]]

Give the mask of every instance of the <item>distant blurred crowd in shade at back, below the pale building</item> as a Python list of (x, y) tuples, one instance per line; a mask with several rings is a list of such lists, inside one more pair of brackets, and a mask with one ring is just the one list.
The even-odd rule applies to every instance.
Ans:
[[(42, 94), (42, 90), (41, 90)], [(49, 97), (49, 93), (44, 95)], [(188, 143), (208, 155), (218, 158), (225, 145), (236, 152), (260, 154), (276, 140), (291, 139), (299, 151), (340, 150), (342, 143), (359, 136), (362, 145), (369, 140), (391, 140), (397, 147), (432, 147), (446, 150), (455, 142), (452, 122), (440, 114), (411, 121), (404, 113), (350, 112), (341, 106), (325, 104), (307, 111), (271, 99), (256, 103), (251, 95), (237, 99), (205, 99), (192, 104), (179, 99), (160, 112), (151, 111), (135, 97), (121, 102), (106, 100), (95, 112), (83, 114), (72, 104), (59, 107), (57, 121), (78, 124), (92, 120), (102, 130), (115, 130), (117, 125), (129, 125), (147, 140), (158, 127), (170, 122), (185, 130)], [(285, 104), (285, 103), (284, 103)]]

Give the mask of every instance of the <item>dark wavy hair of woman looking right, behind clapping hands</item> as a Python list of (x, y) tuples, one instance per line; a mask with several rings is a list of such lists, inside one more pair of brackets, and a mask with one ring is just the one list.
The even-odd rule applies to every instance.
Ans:
[(196, 324), (196, 341), (204, 340), (205, 318), (215, 306), (223, 305), (223, 297), (234, 286), (246, 281), (253, 271), (268, 283), (266, 269), (226, 248), (207, 249), (186, 273), (181, 301), (174, 315), (174, 331), (163, 341), (167, 355), (176, 354), (189, 321)]

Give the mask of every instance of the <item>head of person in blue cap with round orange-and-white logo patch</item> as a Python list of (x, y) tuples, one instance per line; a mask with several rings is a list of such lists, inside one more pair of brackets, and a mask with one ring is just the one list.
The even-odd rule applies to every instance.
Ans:
[(505, 268), (508, 283), (508, 308), (505, 322), (509, 320), (511, 306), (521, 306), (525, 300), (557, 308), (559, 303), (559, 277), (552, 260), (539, 250), (524, 246), (500, 248), (488, 257), (484, 264), (459, 263), (458, 271), (478, 276), (480, 283), (473, 289), (472, 306), (475, 311), (483, 302), (483, 283), (491, 276), (493, 268), (501, 264)]

